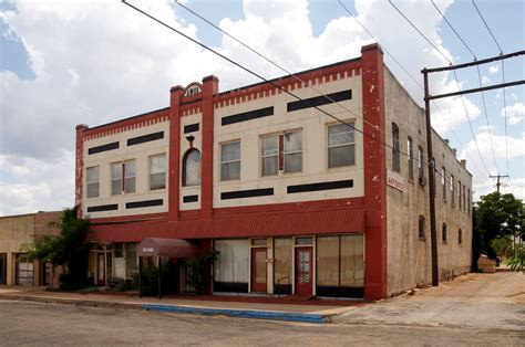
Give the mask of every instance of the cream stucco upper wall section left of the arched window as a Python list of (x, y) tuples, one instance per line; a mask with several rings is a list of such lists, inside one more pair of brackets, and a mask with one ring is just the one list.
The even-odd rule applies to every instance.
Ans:
[[(127, 146), (127, 139), (138, 137), (152, 133), (164, 132), (164, 138)], [(120, 141), (117, 149), (106, 150), (93, 155), (89, 155), (89, 149), (114, 141)], [(102, 136), (84, 141), (83, 148), (83, 200), (82, 209), (84, 215), (91, 218), (105, 218), (115, 215), (156, 213), (167, 211), (167, 189), (168, 179), (166, 170), (166, 188), (159, 190), (150, 190), (150, 157), (159, 154), (166, 154), (166, 167), (169, 156), (169, 123), (162, 122), (147, 125), (140, 128), (128, 129), (125, 132)], [(135, 192), (123, 193), (117, 196), (111, 194), (111, 164), (135, 159)], [(86, 198), (86, 169), (100, 166), (100, 197)], [(163, 206), (126, 209), (127, 202), (163, 199)], [(87, 212), (87, 207), (119, 204), (119, 209), (114, 211)]]

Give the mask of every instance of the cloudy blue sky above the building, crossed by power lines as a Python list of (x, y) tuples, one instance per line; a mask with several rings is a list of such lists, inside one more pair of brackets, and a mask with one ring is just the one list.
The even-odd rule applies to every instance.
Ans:
[[(173, 1), (130, 1), (266, 77), (282, 75)], [(420, 70), (447, 62), (387, 1), (343, 1), (385, 50), (422, 83)], [(430, 1), (393, 1), (454, 63), (473, 60)], [(504, 53), (525, 49), (521, 0), (475, 1)], [(185, 1), (287, 70), (351, 59), (373, 40), (333, 1)], [(471, 0), (435, 1), (477, 59), (498, 48)], [(169, 86), (220, 78), (222, 90), (258, 82), (182, 40), (120, 1), (0, 2), (0, 215), (73, 203), (74, 126), (116, 120), (168, 104)], [(389, 56), (385, 62), (414, 99), (422, 91)], [(506, 81), (523, 80), (524, 57), (505, 62)], [(502, 81), (501, 63), (480, 66), (483, 85)], [(457, 72), (462, 88), (480, 87), (476, 69)], [(454, 91), (451, 74), (433, 76), (434, 94)], [(434, 127), (474, 175), (475, 197), (494, 190), (488, 175), (509, 175), (503, 191), (525, 198), (524, 86), (506, 88), (507, 135), (501, 90), (437, 102)], [(487, 120), (491, 132), (487, 132)], [(492, 141), (491, 141), (492, 135)], [(459, 139), (459, 140), (457, 140)], [(508, 145), (508, 171), (507, 151)], [(476, 146), (477, 145), (477, 146)], [(480, 149), (480, 151), (477, 150)], [(494, 160), (494, 155), (496, 160)]]

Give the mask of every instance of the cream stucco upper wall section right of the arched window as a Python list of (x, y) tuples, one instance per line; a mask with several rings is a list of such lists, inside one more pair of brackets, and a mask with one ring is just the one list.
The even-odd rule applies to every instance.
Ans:
[[(320, 108), (342, 120), (356, 122), (356, 127), (362, 129), (361, 75), (346, 76), (344, 78), (326, 82), (315, 87), (325, 94), (351, 90), (352, 98), (339, 104), (351, 109), (353, 114), (338, 104), (320, 106)], [(308, 87), (295, 90), (292, 93), (301, 98), (320, 95)], [(297, 99), (288, 94), (276, 93), (275, 95), (215, 109), (214, 208), (350, 198), (363, 194), (362, 136), (356, 132), (354, 166), (328, 169), (327, 125), (337, 124), (338, 122), (313, 107), (287, 112), (287, 103), (295, 101)], [(222, 125), (220, 120), (225, 116), (270, 106), (274, 107), (272, 116)], [(302, 132), (302, 171), (262, 177), (260, 137), (287, 130)], [(220, 181), (220, 145), (233, 140), (240, 140), (240, 179)], [(290, 185), (348, 179), (353, 179), (353, 188), (294, 194), (286, 192), (287, 186)], [(225, 191), (259, 188), (274, 188), (274, 196), (233, 200), (220, 199), (220, 193)]]

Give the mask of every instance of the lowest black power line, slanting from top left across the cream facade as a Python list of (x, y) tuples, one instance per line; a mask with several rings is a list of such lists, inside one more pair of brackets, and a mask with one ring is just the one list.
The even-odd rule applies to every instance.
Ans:
[[(236, 61), (234, 61), (234, 60), (227, 57), (226, 55), (224, 55), (224, 54), (222, 54), (222, 53), (215, 51), (214, 49), (207, 46), (206, 44), (200, 43), (200, 42), (198, 42), (197, 40), (195, 40), (195, 39), (193, 39), (193, 38), (186, 35), (186, 34), (183, 33), (182, 31), (179, 31), (179, 30), (177, 30), (177, 29), (171, 27), (169, 24), (167, 24), (167, 23), (161, 21), (159, 19), (153, 17), (152, 14), (150, 14), (150, 13), (147, 13), (147, 12), (141, 10), (140, 8), (137, 8), (137, 7), (135, 7), (135, 6), (133, 6), (133, 4), (128, 3), (128, 2), (126, 2), (125, 0), (122, 0), (122, 2), (123, 2), (124, 4), (126, 4), (126, 6), (128, 6), (130, 8), (134, 9), (135, 11), (137, 11), (137, 12), (144, 14), (145, 17), (147, 17), (147, 18), (150, 18), (150, 19), (152, 19), (153, 21), (159, 23), (161, 25), (163, 25), (163, 27), (165, 27), (165, 28), (167, 28), (167, 29), (169, 29), (169, 30), (176, 32), (177, 34), (182, 35), (183, 38), (185, 38), (185, 39), (192, 41), (193, 43), (195, 43), (195, 44), (202, 46), (203, 49), (205, 49), (205, 50), (207, 50), (207, 51), (209, 51), (209, 52), (216, 54), (217, 56), (224, 59), (224, 60), (227, 61), (228, 63), (230, 63), (230, 64), (233, 64), (233, 65), (235, 65), (235, 66), (237, 66), (237, 67), (239, 67), (239, 69), (241, 69), (241, 70), (244, 70), (244, 71), (246, 71), (246, 72), (248, 72), (249, 74), (251, 74), (251, 75), (254, 75), (254, 76), (256, 76), (256, 77), (258, 77), (258, 78), (265, 81), (266, 83), (268, 83), (268, 84), (275, 86), (276, 88), (278, 88), (278, 90), (281, 91), (282, 93), (286, 93), (286, 94), (292, 96), (294, 98), (296, 98), (296, 99), (298, 99), (298, 101), (303, 101), (303, 98), (301, 98), (301, 97), (299, 97), (298, 95), (296, 95), (296, 94), (294, 94), (294, 93), (287, 91), (286, 88), (281, 87), (280, 85), (276, 84), (275, 82), (265, 78), (265, 77), (261, 76), (260, 74), (258, 74), (258, 73), (251, 71), (250, 69), (248, 69), (248, 67), (241, 65), (240, 63), (237, 63)], [(378, 141), (378, 143), (384, 145), (384, 146), (388, 147), (388, 148), (393, 149), (393, 146), (392, 146), (392, 145), (389, 145), (389, 144), (387, 144), (387, 143), (380, 140), (380, 139), (377, 138), (374, 135), (364, 133), (363, 130), (357, 128), (354, 125), (351, 125), (351, 124), (346, 123), (344, 120), (342, 120), (342, 119), (340, 119), (340, 118), (333, 116), (332, 114), (330, 114), (330, 113), (328, 113), (328, 112), (326, 112), (326, 111), (319, 108), (318, 106), (313, 106), (312, 108), (315, 108), (315, 109), (319, 111), (320, 113), (322, 113), (322, 114), (325, 114), (325, 115), (327, 115), (327, 116), (329, 116), (329, 117), (331, 117), (331, 118), (338, 120), (338, 122), (341, 123), (341, 124), (347, 125), (348, 127), (354, 129), (356, 132), (362, 134), (363, 136), (367, 136), (367, 137), (369, 137), (370, 139), (372, 139), (372, 140), (374, 140), (374, 141)], [(374, 127), (377, 130), (379, 130), (379, 127), (378, 127), (378, 126), (373, 125), (373, 127)], [(403, 156), (409, 157), (409, 155), (408, 155), (406, 153), (401, 151), (399, 148), (397, 148), (397, 151), (398, 151), (399, 154), (403, 155)]]

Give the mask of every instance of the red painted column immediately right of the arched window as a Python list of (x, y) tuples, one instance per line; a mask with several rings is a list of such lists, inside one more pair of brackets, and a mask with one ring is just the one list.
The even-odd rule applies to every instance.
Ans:
[(212, 218), (214, 207), (214, 95), (218, 93), (218, 78), (203, 78), (203, 148), (200, 215)]

